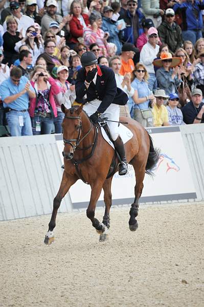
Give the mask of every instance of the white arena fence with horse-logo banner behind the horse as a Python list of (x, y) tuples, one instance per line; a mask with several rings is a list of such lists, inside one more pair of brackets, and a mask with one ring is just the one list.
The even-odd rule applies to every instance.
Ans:
[[(203, 201), (204, 124), (147, 129), (161, 148), (152, 180), (146, 177), (141, 203)], [(0, 221), (52, 212), (63, 170), (61, 135), (0, 138)], [(115, 175), (113, 205), (130, 204), (134, 173)], [(80, 193), (79, 193), (80, 191)], [(85, 208), (90, 187), (81, 180), (63, 199), (59, 212)], [(103, 193), (98, 206), (104, 205)]]

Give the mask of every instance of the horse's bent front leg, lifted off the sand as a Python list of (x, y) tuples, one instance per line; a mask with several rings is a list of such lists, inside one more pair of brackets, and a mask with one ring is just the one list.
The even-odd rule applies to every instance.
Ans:
[(99, 199), (102, 190), (102, 183), (95, 183), (91, 185), (92, 192), (90, 193), (90, 202), (88, 204), (88, 208), (86, 210), (86, 216), (92, 221), (92, 225), (96, 228), (98, 233), (103, 233), (105, 230), (105, 226), (103, 223), (100, 223), (95, 217), (95, 209), (96, 204)]

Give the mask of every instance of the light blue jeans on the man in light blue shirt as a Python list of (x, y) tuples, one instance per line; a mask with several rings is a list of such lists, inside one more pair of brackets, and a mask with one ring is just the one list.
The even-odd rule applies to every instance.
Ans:
[[(22, 116), (23, 126), (19, 124), (19, 116)], [(6, 113), (6, 120), (12, 137), (32, 136), (31, 118), (28, 113), (21, 111), (10, 111)]]

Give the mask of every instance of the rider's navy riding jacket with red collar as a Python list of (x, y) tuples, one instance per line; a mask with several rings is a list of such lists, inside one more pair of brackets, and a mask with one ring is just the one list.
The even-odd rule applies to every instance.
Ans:
[(94, 99), (101, 100), (97, 111), (104, 113), (111, 103), (125, 105), (128, 101), (128, 96), (116, 85), (115, 73), (106, 66), (97, 66), (98, 73), (96, 84), (90, 82), (88, 89), (84, 81), (86, 79), (86, 71), (81, 68), (77, 73), (77, 81), (75, 84), (76, 101), (81, 102), (86, 95), (86, 101)]

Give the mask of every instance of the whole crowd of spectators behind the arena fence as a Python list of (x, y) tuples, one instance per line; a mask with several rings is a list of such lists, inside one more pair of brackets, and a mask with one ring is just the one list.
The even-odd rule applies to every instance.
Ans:
[(0, 126), (62, 133), (92, 51), (144, 127), (204, 122), (204, 0), (0, 0)]

